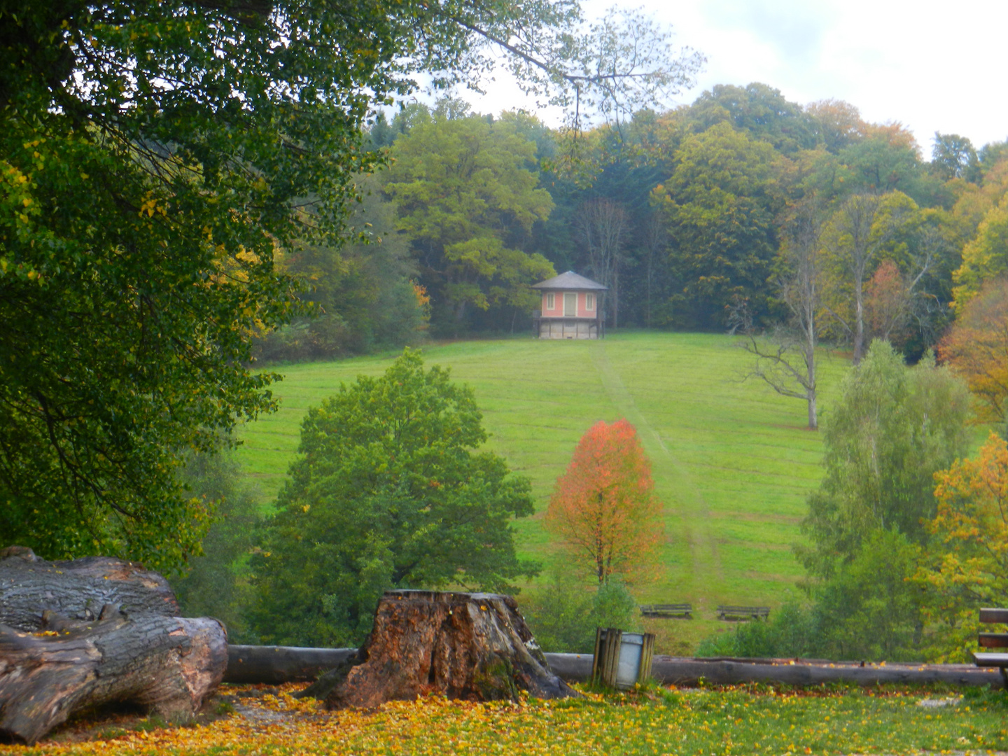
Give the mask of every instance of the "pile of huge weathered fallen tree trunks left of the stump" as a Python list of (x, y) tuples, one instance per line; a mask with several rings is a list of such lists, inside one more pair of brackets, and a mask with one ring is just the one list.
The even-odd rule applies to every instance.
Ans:
[[(101, 598), (120, 603), (96, 607)], [(34, 743), (74, 712), (115, 701), (191, 717), (224, 675), (227, 633), (174, 614), (167, 583), (139, 564), (0, 551), (0, 738)]]

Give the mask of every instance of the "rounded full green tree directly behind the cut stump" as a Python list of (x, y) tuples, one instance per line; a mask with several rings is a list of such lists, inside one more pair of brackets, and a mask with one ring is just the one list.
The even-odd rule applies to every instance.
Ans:
[(263, 641), (357, 643), (386, 589), (511, 591), (537, 572), (510, 524), (532, 514), (529, 482), (477, 451), (481, 420), (471, 389), (409, 350), (308, 411), (253, 558)]

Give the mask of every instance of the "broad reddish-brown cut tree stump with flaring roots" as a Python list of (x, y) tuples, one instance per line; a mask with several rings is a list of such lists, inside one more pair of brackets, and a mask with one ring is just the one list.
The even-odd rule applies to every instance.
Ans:
[(330, 709), (431, 692), (499, 701), (579, 694), (553, 674), (510, 596), (388, 591), (356, 657), (305, 690)]

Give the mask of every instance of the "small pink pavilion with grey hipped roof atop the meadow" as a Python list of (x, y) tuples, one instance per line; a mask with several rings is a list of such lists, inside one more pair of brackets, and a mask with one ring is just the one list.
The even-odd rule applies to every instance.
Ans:
[(532, 316), (540, 339), (601, 339), (606, 335), (602, 297), (607, 286), (572, 270), (532, 284), (542, 292), (542, 309)]

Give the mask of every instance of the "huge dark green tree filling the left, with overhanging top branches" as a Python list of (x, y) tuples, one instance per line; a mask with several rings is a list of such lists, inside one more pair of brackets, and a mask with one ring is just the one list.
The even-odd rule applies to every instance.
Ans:
[[(244, 366), (294, 308), (274, 251), (339, 232), (375, 103), (506, 49), (528, 88), (605, 115), (699, 65), (609, 18), (586, 27), (569, 0), (0, 3), (2, 540), (180, 564), (209, 510), (173, 470), (273, 407)], [(650, 54), (625, 54), (626, 28)]]

